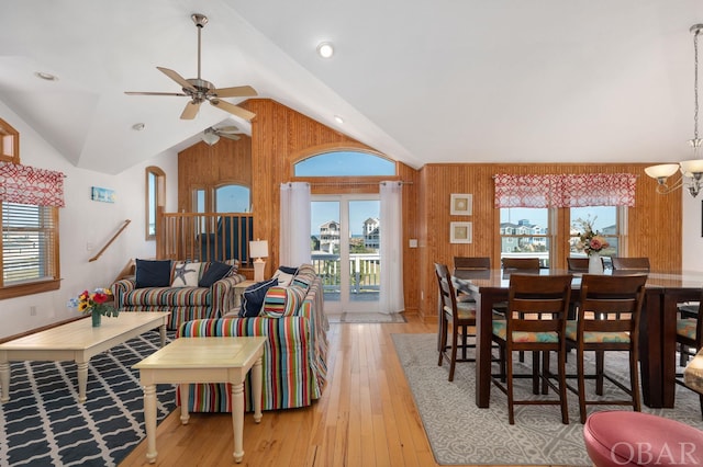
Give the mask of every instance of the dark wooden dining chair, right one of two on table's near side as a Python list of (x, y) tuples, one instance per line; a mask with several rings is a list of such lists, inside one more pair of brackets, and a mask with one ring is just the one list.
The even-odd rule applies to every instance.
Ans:
[[(579, 397), (581, 423), (585, 422), (587, 406), (620, 405), (640, 410), (639, 400), (639, 316), (645, 298), (647, 274), (607, 276), (584, 274), (581, 277), (581, 299), (576, 320), (567, 322), (567, 345), (577, 351), (578, 387), (568, 385)], [(585, 352), (595, 353), (595, 374), (585, 374)], [(629, 356), (629, 387), (605, 373), (605, 352), (627, 352)], [(598, 399), (589, 398), (585, 379), (595, 379)], [(628, 399), (604, 398), (603, 383), (607, 379)]]

